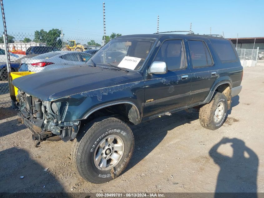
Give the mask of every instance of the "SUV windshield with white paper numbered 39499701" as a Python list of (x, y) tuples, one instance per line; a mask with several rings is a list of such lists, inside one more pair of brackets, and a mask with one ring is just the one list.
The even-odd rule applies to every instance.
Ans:
[[(138, 70), (147, 58), (155, 41), (156, 39), (151, 38), (114, 39), (99, 49), (91, 59), (96, 65), (110, 63), (114, 66)], [(91, 59), (87, 61), (87, 64), (93, 65)]]

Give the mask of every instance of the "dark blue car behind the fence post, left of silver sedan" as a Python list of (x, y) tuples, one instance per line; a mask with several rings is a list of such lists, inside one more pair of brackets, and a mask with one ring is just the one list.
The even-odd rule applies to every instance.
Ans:
[[(17, 72), (20, 64), (21, 64), (21, 60), (24, 58), (32, 58), (34, 56), (37, 56), (38, 54), (29, 54), (26, 56), (23, 56), (22, 58), (18, 58), (17, 60), (13, 61), (10, 64), (10, 71), (11, 72)], [(5, 62), (0, 63), (0, 79), (1, 80), (7, 80), (8, 79), (8, 74), (7, 74), (7, 64)]]

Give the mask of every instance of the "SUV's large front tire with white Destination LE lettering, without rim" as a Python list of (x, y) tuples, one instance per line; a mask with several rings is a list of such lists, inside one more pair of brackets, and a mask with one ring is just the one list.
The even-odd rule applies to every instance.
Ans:
[[(124, 143), (120, 161), (110, 170), (99, 170), (94, 163), (94, 152), (103, 138), (116, 135)], [(132, 130), (122, 120), (102, 117), (91, 121), (81, 128), (72, 145), (72, 162), (79, 175), (92, 183), (105, 183), (118, 177), (126, 168), (134, 150)]]

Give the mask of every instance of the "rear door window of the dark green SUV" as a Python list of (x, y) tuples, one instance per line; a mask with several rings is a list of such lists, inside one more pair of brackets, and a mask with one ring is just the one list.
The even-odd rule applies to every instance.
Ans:
[(207, 45), (203, 41), (189, 40), (189, 47), (191, 52), (192, 67), (206, 67), (213, 64), (212, 56)]

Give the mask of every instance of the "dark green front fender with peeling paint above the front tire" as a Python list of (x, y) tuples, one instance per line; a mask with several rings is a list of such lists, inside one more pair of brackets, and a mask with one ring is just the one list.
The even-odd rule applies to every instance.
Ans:
[(65, 98), (63, 100), (67, 102), (67, 110), (62, 121), (86, 119), (96, 110), (114, 104), (131, 104), (140, 122), (144, 106), (144, 85), (142, 80), (82, 92)]

